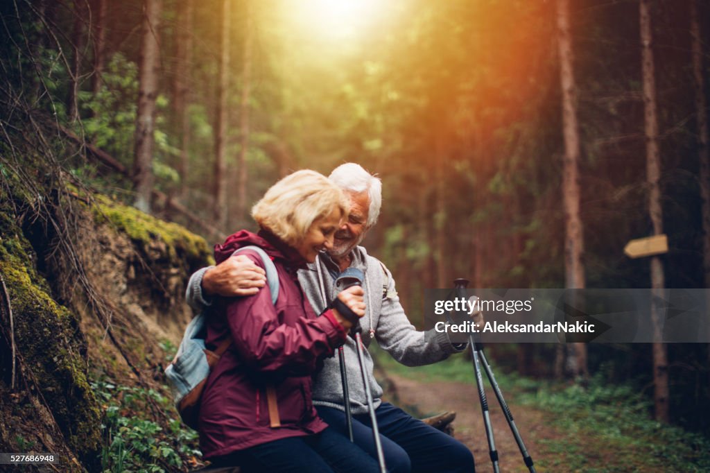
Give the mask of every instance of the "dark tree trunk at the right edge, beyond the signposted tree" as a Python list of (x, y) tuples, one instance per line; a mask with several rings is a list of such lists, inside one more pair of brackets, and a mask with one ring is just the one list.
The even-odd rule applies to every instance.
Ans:
[[(695, 85), (695, 110), (698, 124), (698, 161), (700, 164), (699, 187), (702, 197), (703, 222), (703, 282), (710, 288), (710, 149), (708, 148), (708, 113), (703, 77), (703, 43), (700, 36), (700, 21), (697, 0), (690, 0), (690, 35), (692, 38), (693, 77)], [(706, 301), (710, 307), (710, 297)], [(706, 334), (710, 337), (710, 333)], [(710, 344), (708, 345), (710, 365)]]

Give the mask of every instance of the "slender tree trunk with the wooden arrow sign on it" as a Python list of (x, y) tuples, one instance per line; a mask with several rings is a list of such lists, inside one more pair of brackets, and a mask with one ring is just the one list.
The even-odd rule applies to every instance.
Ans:
[[(653, 225), (653, 234), (663, 233), (663, 211), (660, 193), (660, 150), (658, 145), (658, 115), (656, 86), (654, 78), (651, 17), (649, 0), (640, 0), (641, 32), (641, 67), (643, 71), (643, 105), (646, 138), (646, 183), (648, 185), (648, 210)], [(665, 286), (663, 266), (658, 256), (651, 258), (651, 288), (657, 295), (651, 304), (651, 318), (654, 325), (654, 337), (661, 339), (660, 291)], [(668, 352), (665, 344), (653, 344), (653, 380), (655, 384), (654, 401), (657, 420), (668, 420)]]

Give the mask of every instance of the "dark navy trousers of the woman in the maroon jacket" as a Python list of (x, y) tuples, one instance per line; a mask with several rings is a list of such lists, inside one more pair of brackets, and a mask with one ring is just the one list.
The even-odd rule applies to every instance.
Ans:
[(288, 437), (212, 459), (212, 467), (242, 473), (378, 473), (377, 461), (332, 428)]

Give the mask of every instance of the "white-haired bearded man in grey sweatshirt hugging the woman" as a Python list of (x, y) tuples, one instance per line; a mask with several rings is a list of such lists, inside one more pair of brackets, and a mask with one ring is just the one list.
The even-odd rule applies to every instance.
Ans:
[[(425, 337), (410, 323), (400, 305), (395, 281), (381, 261), (359, 246), (377, 221), (382, 195), (381, 182), (360, 165), (347, 163), (333, 170), (329, 178), (350, 198), (347, 222), (335, 234), (333, 248), (318, 256), (315, 263), (298, 272), (298, 279), (312, 307), (321, 312), (337, 295), (335, 280), (346, 268), (365, 274), (366, 315), (361, 318), (366, 347), (377, 339), (382, 349), (407, 366), (430, 364), (459, 352), (446, 334), (432, 332)], [(250, 295), (264, 285), (261, 268), (239, 257), (197, 271), (188, 286), (188, 303), (194, 308), (210, 304), (210, 295)], [(353, 413), (354, 441), (376, 457), (371, 421), (368, 416), (356, 344), (348, 338), (344, 345), (349, 398)], [(382, 402), (382, 388), (373, 376), (373, 359), (365, 350), (366, 376), (373, 391), (376, 417), (385, 462), (390, 472), (473, 472), (474, 458), (461, 442), (422, 423), (400, 408)], [(315, 378), (313, 403), (319, 415), (333, 428), (347, 435), (344, 397), (337, 357), (325, 360)]]

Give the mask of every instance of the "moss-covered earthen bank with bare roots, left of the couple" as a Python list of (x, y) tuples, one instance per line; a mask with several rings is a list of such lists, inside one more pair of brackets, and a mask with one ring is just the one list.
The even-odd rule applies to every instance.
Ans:
[[(178, 224), (109, 197), (53, 183), (36, 183), (43, 191), (28, 193), (23, 183), (3, 176), (0, 274), (22, 372), (16, 376), (19, 386), (11, 389), (4, 317), (0, 415), (21, 427), (0, 423), (0, 450), (62, 452), (72, 459), (62, 471), (97, 471), (111, 464), (104, 454), (114, 433), (102, 431), (107, 406), (92, 386), (111, 379), (121, 390), (168, 393), (163, 346), (166, 340), (177, 344), (192, 316), (184, 303), (185, 284), (190, 273), (212, 262), (211, 251), (202, 237)], [(116, 389), (118, 401), (121, 390)], [(177, 415), (169, 401), (146, 406), (151, 408), (145, 412), (121, 409), (121, 415), (172, 431), (170, 415)]]

